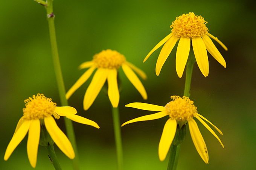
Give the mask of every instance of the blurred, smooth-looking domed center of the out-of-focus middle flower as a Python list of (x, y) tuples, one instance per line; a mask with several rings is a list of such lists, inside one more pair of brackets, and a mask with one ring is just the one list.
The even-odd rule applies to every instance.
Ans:
[(94, 55), (93, 62), (97, 68), (118, 69), (125, 62), (125, 56), (108, 49)]

